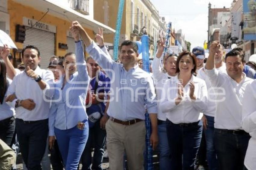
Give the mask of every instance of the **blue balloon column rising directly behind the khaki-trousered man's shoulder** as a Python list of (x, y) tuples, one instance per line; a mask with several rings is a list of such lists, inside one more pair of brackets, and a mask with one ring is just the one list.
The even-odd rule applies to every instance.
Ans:
[[(142, 45), (142, 63), (143, 70), (149, 73), (149, 45), (148, 45), (148, 35), (142, 35), (141, 37), (141, 45)], [(151, 123), (149, 119), (149, 114), (146, 112), (145, 114), (145, 126), (146, 126), (146, 138), (145, 138), (145, 169), (153, 170), (152, 163), (152, 147), (150, 145), (150, 135), (151, 135)]]

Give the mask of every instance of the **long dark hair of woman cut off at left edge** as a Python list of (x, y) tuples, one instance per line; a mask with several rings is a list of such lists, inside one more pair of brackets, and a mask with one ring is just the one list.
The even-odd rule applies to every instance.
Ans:
[(3, 104), (5, 93), (8, 88), (8, 82), (6, 78), (6, 66), (5, 62), (2, 58), (0, 58), (0, 65), (1, 65), (1, 71), (0, 71), (0, 103)]

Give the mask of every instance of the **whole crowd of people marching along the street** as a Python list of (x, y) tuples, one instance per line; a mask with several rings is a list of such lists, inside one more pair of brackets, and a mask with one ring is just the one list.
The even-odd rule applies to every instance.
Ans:
[(33, 44), (23, 48), (18, 69), (1, 47), (0, 169), (15, 169), (17, 134), (23, 169), (71, 170), (81, 162), (101, 170), (106, 144), (111, 170), (123, 169), (124, 159), (128, 169), (142, 170), (146, 111), (161, 170), (202, 168), (202, 141), (209, 170), (256, 169), (256, 67), (245, 64), (241, 48), (225, 54), (214, 41), (206, 63), (202, 47), (166, 53), (163, 72), (160, 38), (149, 74), (135, 42), (123, 41), (115, 62), (102, 29), (98, 45), (77, 21), (70, 30), (76, 51), (53, 56), (47, 69)]

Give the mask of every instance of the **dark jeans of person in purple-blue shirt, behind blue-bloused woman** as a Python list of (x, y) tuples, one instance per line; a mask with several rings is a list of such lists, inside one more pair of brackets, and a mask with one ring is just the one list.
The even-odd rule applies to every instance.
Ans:
[[(104, 148), (106, 143), (106, 130), (100, 128), (100, 119), (89, 128), (89, 137), (81, 157), (82, 170), (92, 169), (102, 170)], [(92, 148), (94, 148), (92, 160)]]

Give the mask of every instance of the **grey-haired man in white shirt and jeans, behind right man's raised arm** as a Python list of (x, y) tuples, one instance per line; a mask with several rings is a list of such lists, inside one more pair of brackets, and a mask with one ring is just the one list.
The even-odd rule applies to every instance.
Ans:
[[(215, 61), (215, 68), (220, 73), (226, 73), (226, 64), (222, 62), (223, 57), (223, 47), (221, 46), (220, 49), (214, 54), (214, 61)], [(208, 167), (211, 170), (217, 170), (217, 157), (216, 152), (214, 149), (214, 116), (216, 112), (216, 102), (214, 95), (214, 89), (211, 87), (210, 80), (208, 76), (205, 73), (204, 68), (200, 68), (197, 73), (197, 77), (201, 78), (205, 81), (208, 91), (208, 103), (207, 108), (204, 110), (204, 117), (203, 117), (203, 123), (204, 123), (204, 134), (205, 134), (205, 140), (206, 140), (206, 157), (208, 162)]]

